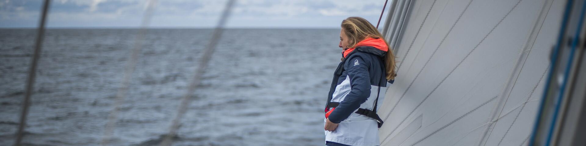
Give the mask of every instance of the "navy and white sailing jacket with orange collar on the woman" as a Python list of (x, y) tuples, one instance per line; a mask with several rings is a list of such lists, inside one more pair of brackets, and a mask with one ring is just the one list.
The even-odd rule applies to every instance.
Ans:
[[(338, 65), (328, 94), (329, 102), (339, 103), (328, 117), (332, 123), (338, 123), (338, 128), (325, 131), (326, 141), (346, 145), (380, 145), (377, 121), (355, 112), (358, 108), (376, 111), (374, 103), (384, 100), (387, 86), (383, 66), (386, 43), (383, 46), (380, 49), (377, 47), (381, 46), (376, 45), (353, 48)], [(374, 102), (377, 96), (379, 101)]]

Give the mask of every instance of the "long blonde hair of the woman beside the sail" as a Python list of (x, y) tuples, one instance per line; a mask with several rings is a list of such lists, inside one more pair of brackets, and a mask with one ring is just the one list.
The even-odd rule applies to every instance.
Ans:
[[(374, 28), (374, 26), (366, 21), (366, 19), (360, 17), (349, 17), (344, 19), (344, 21), (342, 21), (342, 29), (349, 38), (349, 45), (347, 48), (355, 47), (356, 43), (366, 38), (383, 38), (383, 35), (380, 34), (379, 30)], [(387, 70), (386, 79), (394, 80), (395, 76), (397, 76), (395, 73), (395, 55), (393, 54), (393, 50), (389, 46), (387, 40), (384, 40), (384, 43), (389, 47), (389, 51), (384, 55), (384, 62)]]

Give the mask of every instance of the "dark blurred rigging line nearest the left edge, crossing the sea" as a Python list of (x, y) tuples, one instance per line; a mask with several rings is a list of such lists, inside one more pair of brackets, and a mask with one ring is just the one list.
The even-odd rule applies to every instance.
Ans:
[(40, 50), (42, 49), (43, 38), (45, 37), (45, 23), (47, 21), (47, 13), (49, 13), (50, 2), (50, 0), (45, 0), (43, 2), (43, 10), (41, 12), (39, 28), (35, 40), (35, 50), (33, 52), (33, 57), (29, 66), (29, 76), (26, 79), (26, 93), (25, 99), (22, 101), (21, 120), (18, 124), (18, 132), (16, 133), (16, 140), (14, 142), (14, 145), (21, 145), (22, 138), (25, 135), (26, 116), (28, 116), (29, 114), (30, 96), (32, 95), (34, 90), (36, 71), (37, 66), (39, 64), (39, 58), (41, 53)]

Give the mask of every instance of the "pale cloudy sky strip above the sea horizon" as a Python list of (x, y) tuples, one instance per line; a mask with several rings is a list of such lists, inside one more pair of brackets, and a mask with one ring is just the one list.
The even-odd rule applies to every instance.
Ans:
[[(226, 27), (339, 28), (340, 22), (349, 16), (363, 17), (376, 26), (384, 1), (236, 0)], [(148, 27), (213, 28), (226, 2), (157, 0)], [(138, 28), (147, 4), (148, 0), (53, 0), (47, 27)], [(41, 5), (42, 0), (0, 0), (0, 28), (38, 26)]]

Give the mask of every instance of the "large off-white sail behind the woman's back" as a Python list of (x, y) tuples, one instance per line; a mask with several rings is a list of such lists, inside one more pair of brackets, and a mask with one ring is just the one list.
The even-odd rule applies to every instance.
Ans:
[(381, 145), (527, 145), (565, 1), (397, 0)]

